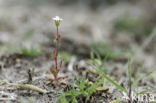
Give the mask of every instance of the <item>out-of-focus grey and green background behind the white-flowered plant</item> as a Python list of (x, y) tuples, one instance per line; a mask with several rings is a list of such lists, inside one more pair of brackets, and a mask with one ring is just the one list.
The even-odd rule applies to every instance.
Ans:
[(86, 48), (102, 56), (128, 51), (154, 67), (156, 0), (0, 0), (0, 55), (50, 53), (57, 15), (62, 51), (84, 57)]

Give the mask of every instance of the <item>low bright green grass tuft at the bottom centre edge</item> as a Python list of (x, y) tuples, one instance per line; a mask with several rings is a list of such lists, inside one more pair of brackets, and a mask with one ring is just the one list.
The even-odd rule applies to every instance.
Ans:
[(86, 77), (83, 76), (81, 81), (75, 80), (74, 83), (68, 84), (71, 89), (62, 93), (55, 103), (79, 103), (78, 98), (85, 98), (87, 102), (96, 88), (103, 82), (102, 80), (103, 78), (96, 79), (96, 82), (90, 85)]

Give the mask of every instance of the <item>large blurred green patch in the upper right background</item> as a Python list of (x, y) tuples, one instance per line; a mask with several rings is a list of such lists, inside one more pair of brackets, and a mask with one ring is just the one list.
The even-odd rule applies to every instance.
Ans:
[(130, 32), (137, 37), (149, 36), (153, 30), (153, 26), (146, 24), (142, 18), (133, 18), (129, 15), (123, 15), (117, 18), (113, 28), (115, 31)]

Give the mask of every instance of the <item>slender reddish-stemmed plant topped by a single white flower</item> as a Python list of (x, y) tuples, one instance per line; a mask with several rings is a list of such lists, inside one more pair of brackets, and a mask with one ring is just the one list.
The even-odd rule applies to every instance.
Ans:
[(53, 77), (47, 76), (47, 78), (49, 80), (52, 80), (53, 85), (57, 85), (57, 84), (60, 83), (59, 80), (66, 78), (66, 76), (62, 76), (62, 77), (58, 76), (59, 71), (60, 71), (60, 69), (62, 67), (62, 60), (58, 61), (58, 49), (59, 49), (60, 38), (61, 38), (61, 35), (59, 34), (58, 27), (60, 25), (60, 22), (63, 19), (61, 19), (59, 16), (56, 16), (55, 18), (53, 18), (53, 20), (55, 21), (55, 25), (56, 25), (56, 38), (54, 40), (54, 42), (56, 43), (56, 48), (52, 52), (52, 56), (54, 58), (55, 65), (52, 65), (51, 68), (50, 68), (50, 72), (52, 73)]

